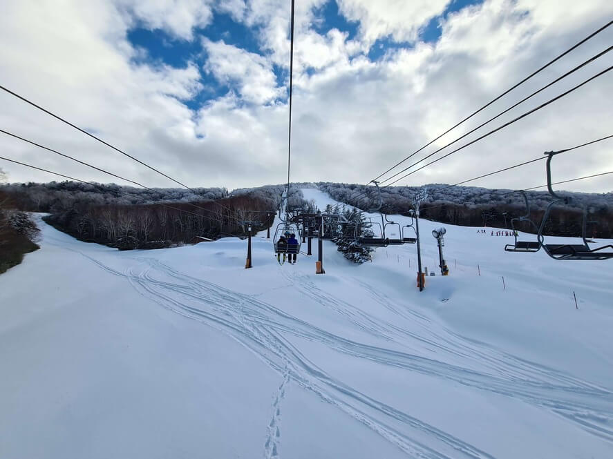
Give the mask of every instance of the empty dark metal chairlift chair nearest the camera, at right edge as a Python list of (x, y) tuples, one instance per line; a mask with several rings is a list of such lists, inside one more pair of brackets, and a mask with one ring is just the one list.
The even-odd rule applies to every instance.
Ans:
[(545, 250), (545, 253), (547, 253), (547, 255), (554, 260), (609, 260), (610, 258), (613, 258), (613, 245), (609, 244), (597, 248), (590, 248), (590, 245), (587, 243), (585, 234), (587, 227), (587, 208), (585, 208), (583, 212), (583, 225), (581, 231), (581, 239), (583, 240), (583, 244), (545, 244), (543, 242), (543, 230), (545, 229), (545, 224), (547, 223), (547, 219), (551, 213), (551, 208), (559, 203), (568, 205), (571, 200), (569, 196), (563, 197), (557, 195), (553, 188), (551, 188), (551, 158), (558, 153), (561, 152), (549, 151), (545, 153), (545, 155), (548, 155), (547, 191), (549, 191), (549, 194), (554, 197), (554, 201), (549, 203), (549, 206), (547, 206), (547, 209), (545, 210), (545, 215), (543, 215), (543, 220), (540, 222), (540, 227), (538, 228), (538, 241)]

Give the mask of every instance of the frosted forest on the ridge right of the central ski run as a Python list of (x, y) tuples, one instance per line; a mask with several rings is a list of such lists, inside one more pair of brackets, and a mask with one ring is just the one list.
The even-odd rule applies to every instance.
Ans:
[[(332, 198), (367, 211), (376, 208), (379, 195), (374, 186), (318, 184)], [(525, 200), (521, 193), (512, 190), (491, 190), (474, 186), (448, 186), (431, 184), (425, 187), (390, 186), (381, 188), (381, 211), (407, 215), (414, 208), (413, 197), (426, 188), (428, 198), (421, 204), (420, 217), (441, 223), (461, 226), (491, 226), (511, 228), (511, 219), (526, 215)], [(444, 188), (444, 190), (440, 190)], [(545, 235), (581, 235), (584, 210), (587, 212), (587, 235), (613, 237), (613, 193), (560, 193), (570, 198), (566, 206), (556, 205), (547, 219)], [(551, 202), (546, 191), (527, 191), (529, 215), (532, 222), (540, 224), (545, 208)], [(534, 233), (534, 227), (525, 222), (516, 225), (519, 231)]]

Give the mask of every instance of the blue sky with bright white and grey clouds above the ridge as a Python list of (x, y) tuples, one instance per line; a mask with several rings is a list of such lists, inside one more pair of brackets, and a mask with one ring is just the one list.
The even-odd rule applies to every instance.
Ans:
[[(604, 26), (613, 3), (296, 0), (294, 17), (291, 180), (366, 184)], [(613, 26), (398, 169), (611, 43)], [(0, 44), (1, 86), (183, 184), (232, 189), (287, 180), (290, 0), (3, 1)], [(608, 53), (454, 145), (612, 65)], [(610, 72), (397, 184), (460, 182), (612, 135), (612, 95)], [(176, 186), (3, 91), (0, 129), (146, 186)], [(0, 156), (122, 183), (1, 133)], [(2, 160), (0, 168), (10, 182), (59, 180)], [(613, 139), (553, 163), (556, 181), (610, 170)], [(612, 177), (564, 188), (610, 192)], [(544, 183), (545, 164), (537, 162), (470, 185)]]

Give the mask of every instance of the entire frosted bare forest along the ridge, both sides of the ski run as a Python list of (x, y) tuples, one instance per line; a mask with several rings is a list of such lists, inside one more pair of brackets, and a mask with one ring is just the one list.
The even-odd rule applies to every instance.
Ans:
[[(300, 188), (314, 186), (363, 211), (376, 208), (379, 202), (373, 186), (320, 182), (292, 184), (289, 208), (307, 208)], [(79, 240), (122, 250), (160, 248), (196, 242), (198, 237), (215, 240), (243, 236), (247, 234), (247, 222), (252, 222), (254, 231), (260, 231), (272, 224), (284, 188), (267, 185), (229, 192), (226, 188), (190, 191), (79, 182), (4, 184), (0, 186), (0, 212), (4, 215), (3, 228), (12, 228), (9, 216), (17, 215), (15, 212), (44, 212), (50, 214), (46, 222)], [(527, 213), (522, 195), (511, 190), (444, 184), (425, 188), (428, 198), (422, 203), (420, 216), (437, 222), (510, 228), (511, 219)], [(381, 211), (406, 215), (413, 208), (415, 193), (421, 189), (381, 188)], [(581, 235), (587, 209), (587, 235), (613, 237), (613, 193), (565, 195), (570, 198), (569, 204), (554, 208), (545, 234)], [(527, 198), (529, 215), (538, 224), (551, 197), (545, 191), (529, 191)], [(15, 217), (12, 218), (15, 226)], [(516, 225), (516, 229), (534, 232), (534, 227), (527, 224)], [(348, 244), (347, 235), (343, 244)]]

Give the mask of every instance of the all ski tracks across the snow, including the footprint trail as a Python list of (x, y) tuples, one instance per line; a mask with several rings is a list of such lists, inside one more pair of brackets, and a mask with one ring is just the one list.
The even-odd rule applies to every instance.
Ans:
[[(332, 377), (290, 342), (288, 338), (292, 336), (323, 344), (355, 358), (522, 400), (563, 416), (585, 431), (613, 442), (613, 393), (609, 390), (463, 338), (433, 324), (424, 315), (393, 304), (384, 293), (375, 291), (364, 282), (359, 284), (366, 295), (406, 322), (411, 322), (411, 330), (368, 315), (357, 306), (321, 291), (306, 278), (286, 276), (300, 293), (321, 306), (331, 308), (359, 330), (395, 347), (407, 349), (411, 346), (421, 349), (422, 353), (428, 351), (432, 354), (430, 358), (343, 338), (253, 295), (236, 293), (191, 277), (153, 258), (133, 258), (139, 268), (133, 266), (120, 272), (77, 252), (105, 271), (125, 277), (140, 295), (149, 300), (227, 333), (283, 375), (265, 440), (267, 459), (279, 456), (279, 403), (289, 380), (379, 433), (408, 456), (492, 458), (489, 453)], [(147, 264), (145, 268), (142, 268), (143, 263)], [(464, 366), (445, 362), (448, 356), (453, 357), (454, 362), (460, 358)]]

